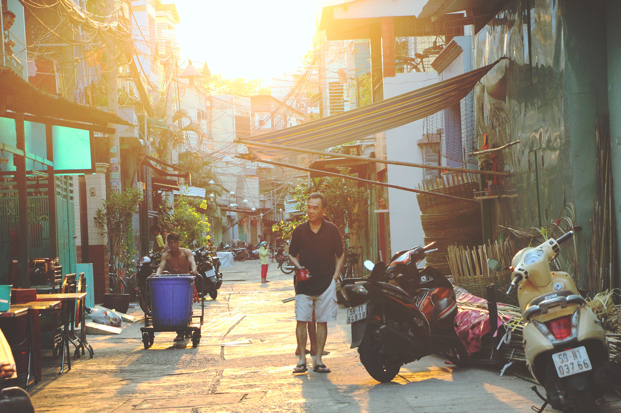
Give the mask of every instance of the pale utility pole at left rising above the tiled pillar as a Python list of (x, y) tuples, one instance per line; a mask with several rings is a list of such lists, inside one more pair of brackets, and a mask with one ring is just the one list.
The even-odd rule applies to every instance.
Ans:
[[(106, 15), (112, 15), (115, 9), (115, 0), (106, 0), (104, 11)], [(116, 54), (117, 47), (114, 43), (114, 37), (108, 35), (106, 45), (108, 111), (118, 115), (119, 87), (117, 85), (117, 77), (119, 76), (119, 70), (117, 69)], [(109, 134), (108, 137), (110, 144), (110, 190), (120, 192), (120, 142), (117, 128), (115, 128), (114, 134)]]

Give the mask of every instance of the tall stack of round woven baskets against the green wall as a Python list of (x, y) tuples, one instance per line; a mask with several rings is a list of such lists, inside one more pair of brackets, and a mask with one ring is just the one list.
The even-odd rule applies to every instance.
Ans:
[[(476, 176), (471, 174), (443, 175), (434, 183), (420, 187), (425, 191), (474, 198), (479, 188)], [(474, 202), (447, 200), (429, 194), (416, 196), (420, 207), (420, 221), (425, 232), (425, 244), (435, 241), (438, 251), (427, 255), (426, 263), (445, 276), (451, 274), (446, 253), (449, 245), (479, 245), (483, 242), (481, 207)]]

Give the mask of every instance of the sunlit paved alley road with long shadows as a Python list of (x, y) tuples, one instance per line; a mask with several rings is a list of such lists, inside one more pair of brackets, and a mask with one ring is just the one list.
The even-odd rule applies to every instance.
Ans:
[[(391, 383), (378, 383), (350, 349), (345, 310), (329, 323), (324, 357), (332, 373), (294, 376), (296, 339), (291, 276), (258, 261), (223, 269), (217, 300), (206, 301), (196, 349), (156, 333), (143, 349), (142, 323), (118, 336), (89, 336), (95, 357), (72, 360), (70, 372), (44, 373), (30, 394), (36, 412), (532, 412), (530, 383), (481, 368), (455, 368), (439, 357), (410, 363)], [(200, 305), (195, 304), (195, 314)], [(133, 313), (142, 316), (140, 308)], [(312, 365), (309, 358), (309, 365)], [(619, 409), (615, 404), (602, 410)], [(546, 412), (552, 412), (547, 409)]]

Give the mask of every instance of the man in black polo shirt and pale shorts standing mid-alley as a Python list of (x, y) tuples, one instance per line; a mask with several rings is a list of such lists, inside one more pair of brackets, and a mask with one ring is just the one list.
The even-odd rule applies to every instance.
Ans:
[[(336, 225), (324, 220), (328, 206), (324, 194), (309, 195), (306, 204), (307, 222), (297, 225), (291, 235), (289, 259), (296, 269), (306, 268), (311, 279), (296, 284), (296, 339), (297, 348), (306, 349), (306, 324), (312, 321), (315, 311), (317, 321), (317, 355), (313, 370), (329, 373), (322, 363), (328, 321), (337, 320), (337, 278), (343, 265), (343, 240)], [(294, 373), (307, 371), (306, 352), (300, 352)]]

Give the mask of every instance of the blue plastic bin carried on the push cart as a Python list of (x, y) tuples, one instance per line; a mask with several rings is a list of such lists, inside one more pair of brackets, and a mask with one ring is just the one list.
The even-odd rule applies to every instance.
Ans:
[(153, 275), (147, 278), (155, 328), (187, 327), (192, 318), (194, 276)]

